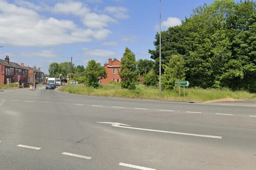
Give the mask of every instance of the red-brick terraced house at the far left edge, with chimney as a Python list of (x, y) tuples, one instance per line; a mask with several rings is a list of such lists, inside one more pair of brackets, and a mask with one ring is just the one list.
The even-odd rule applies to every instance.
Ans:
[(26, 80), (23, 80), (23, 83), (29, 82), (28, 70), (26, 68), (21, 67), (21, 65), (15, 62), (10, 62), (9, 56), (6, 56), (4, 60), (0, 59), (0, 85), (17, 82), (18, 80), (15, 76), (18, 75), (27, 77)]

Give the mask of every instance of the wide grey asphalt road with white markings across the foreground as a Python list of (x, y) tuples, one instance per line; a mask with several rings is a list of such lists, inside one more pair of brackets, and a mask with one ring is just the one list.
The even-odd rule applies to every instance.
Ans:
[(255, 169), (256, 107), (0, 92), (0, 169)]

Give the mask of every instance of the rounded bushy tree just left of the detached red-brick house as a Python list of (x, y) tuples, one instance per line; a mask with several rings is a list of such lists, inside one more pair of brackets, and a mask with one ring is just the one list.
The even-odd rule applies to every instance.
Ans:
[[(101, 67), (101, 64), (95, 60), (88, 61), (85, 68), (85, 84), (97, 88), (99, 86), (99, 78), (106, 78), (106, 69)], [(84, 81), (84, 80), (82, 80)]]

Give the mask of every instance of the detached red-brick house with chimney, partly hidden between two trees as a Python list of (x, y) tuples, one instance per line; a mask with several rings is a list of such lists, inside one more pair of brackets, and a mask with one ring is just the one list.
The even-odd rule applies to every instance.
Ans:
[(120, 61), (115, 59), (112, 61), (112, 58), (108, 59), (108, 63), (104, 63), (103, 66), (106, 69), (107, 78), (105, 79), (99, 79), (100, 84), (107, 84), (108, 82), (114, 81), (114, 82), (120, 82), (121, 78), (118, 74), (120, 71)]

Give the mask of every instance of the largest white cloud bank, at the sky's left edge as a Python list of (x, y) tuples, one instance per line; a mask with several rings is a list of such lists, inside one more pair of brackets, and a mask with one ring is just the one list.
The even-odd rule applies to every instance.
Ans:
[[(79, 9), (79, 6), (76, 7)], [(70, 11), (74, 13), (74, 11)], [(105, 21), (102, 21), (105, 23)], [(104, 24), (103, 24), (104, 25)], [(106, 25), (106, 24), (105, 24)], [(73, 21), (46, 18), (31, 9), (0, 0), (0, 44), (50, 46), (107, 38), (107, 29), (82, 29)]]

